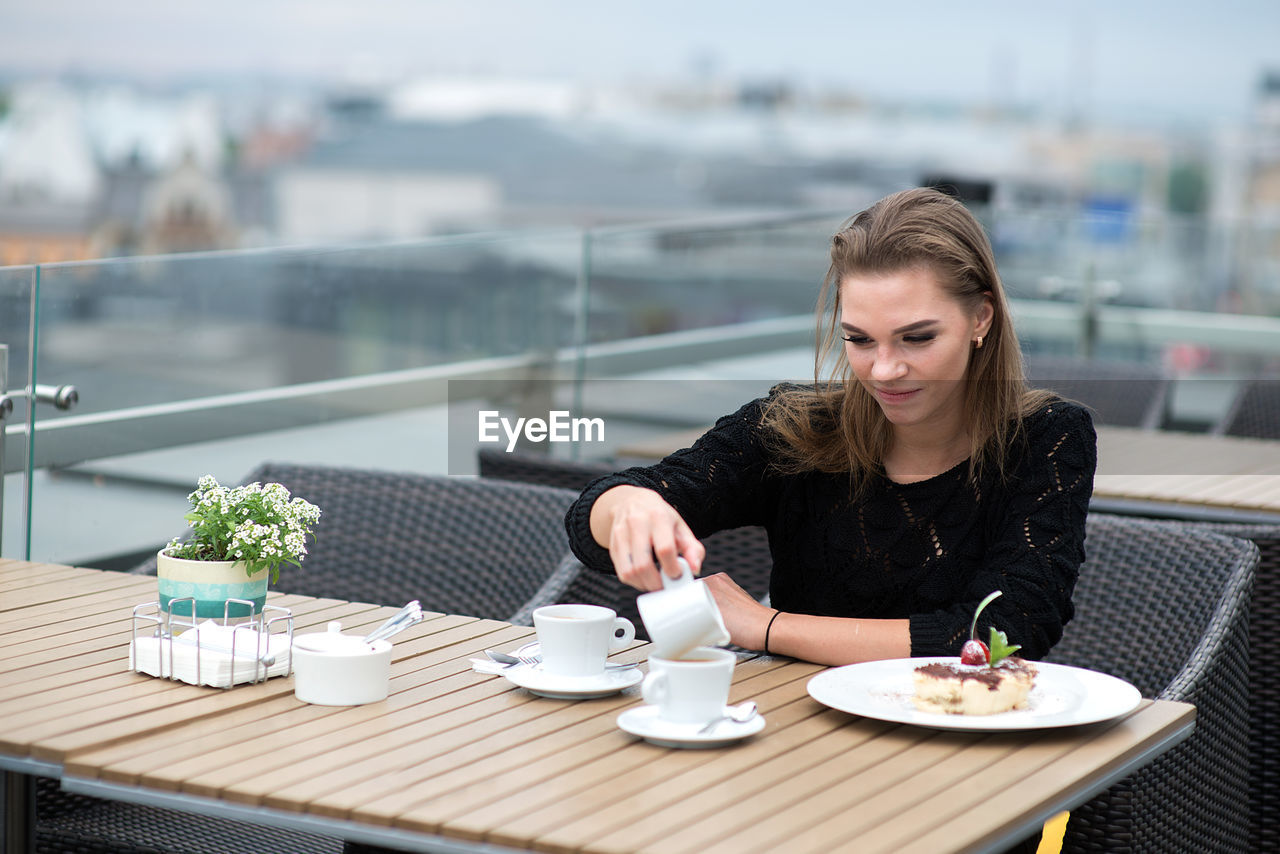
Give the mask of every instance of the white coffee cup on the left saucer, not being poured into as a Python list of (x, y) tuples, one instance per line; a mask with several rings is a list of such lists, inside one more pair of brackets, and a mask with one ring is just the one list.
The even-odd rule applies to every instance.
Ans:
[(596, 604), (549, 604), (534, 611), (543, 672), (556, 676), (598, 676), (609, 652), (636, 638), (626, 617)]

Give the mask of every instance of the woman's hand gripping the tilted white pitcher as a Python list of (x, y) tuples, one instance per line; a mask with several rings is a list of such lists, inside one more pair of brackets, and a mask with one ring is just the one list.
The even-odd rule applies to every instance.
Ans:
[(643, 487), (621, 485), (603, 492), (591, 506), (591, 535), (609, 549), (618, 579), (640, 590), (662, 589), (659, 567), (678, 577), (677, 557), (689, 561), (698, 575), (707, 554), (676, 508)]

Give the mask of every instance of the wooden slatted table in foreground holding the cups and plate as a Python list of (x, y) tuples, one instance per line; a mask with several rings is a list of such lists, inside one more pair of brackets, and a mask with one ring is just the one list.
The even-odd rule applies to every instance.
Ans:
[[(616, 726), (636, 689), (534, 697), (470, 657), (531, 629), (434, 615), (396, 643), (392, 694), (307, 705), (291, 679), (230, 690), (128, 671), (129, 609), (154, 579), (0, 561), (0, 766), (73, 791), (410, 850), (997, 850), (1185, 737), (1194, 709), (1041, 732), (859, 718), (805, 691), (814, 665), (744, 657), (732, 702), (764, 731), (671, 750)], [(273, 595), (297, 630), (394, 609)], [(643, 644), (617, 654), (643, 661)], [(980, 785), (974, 781), (980, 780)], [(989, 808), (989, 793), (1018, 791)]]

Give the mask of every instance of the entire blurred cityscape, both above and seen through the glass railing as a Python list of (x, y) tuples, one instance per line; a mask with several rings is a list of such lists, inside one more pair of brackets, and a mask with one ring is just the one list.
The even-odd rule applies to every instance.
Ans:
[(1029, 353), (1170, 371), (1178, 429), (1280, 369), (1238, 319), (1084, 343), (1093, 302), (1280, 316), (1280, 68), (1203, 120), (710, 67), (319, 79), (0, 70), (0, 268), (41, 265), (0, 269), (9, 388), (79, 389), (6, 423), (8, 553), (128, 566), (196, 476), (264, 460), (468, 472), (447, 387), (564, 353), (653, 380), (608, 401), (618, 444), (709, 423), (698, 379), (808, 375), (829, 234), (910, 186), (983, 219)]

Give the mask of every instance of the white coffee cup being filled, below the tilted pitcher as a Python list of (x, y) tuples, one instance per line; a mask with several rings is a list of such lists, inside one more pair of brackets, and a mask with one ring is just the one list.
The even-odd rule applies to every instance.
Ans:
[(699, 647), (681, 658), (649, 658), (640, 691), (672, 723), (705, 723), (724, 714), (736, 657), (727, 649)]

